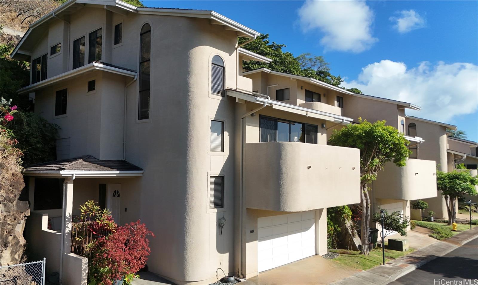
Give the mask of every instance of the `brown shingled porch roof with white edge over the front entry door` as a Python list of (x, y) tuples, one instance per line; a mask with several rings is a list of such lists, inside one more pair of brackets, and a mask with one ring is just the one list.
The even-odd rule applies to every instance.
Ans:
[(32, 176), (142, 176), (144, 170), (125, 160), (99, 160), (91, 155), (43, 162), (26, 167), (23, 174)]

